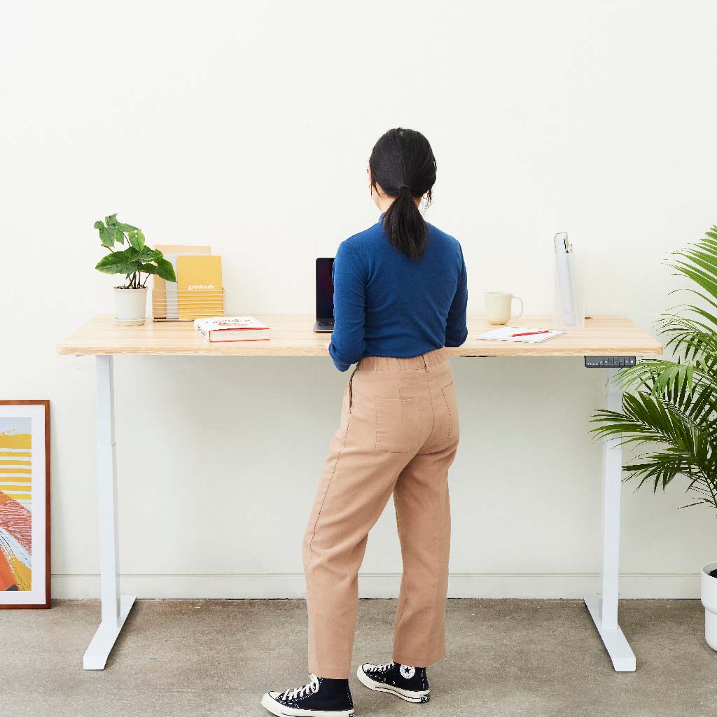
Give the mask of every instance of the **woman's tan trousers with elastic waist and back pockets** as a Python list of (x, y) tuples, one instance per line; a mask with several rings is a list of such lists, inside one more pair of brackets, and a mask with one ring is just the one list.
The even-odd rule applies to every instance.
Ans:
[(345, 679), (351, 671), (359, 567), (391, 493), (404, 566), (393, 660), (427, 667), (445, 657), (448, 468), (458, 437), (443, 349), (412, 359), (361, 359), (343, 395), (303, 541), (315, 675)]

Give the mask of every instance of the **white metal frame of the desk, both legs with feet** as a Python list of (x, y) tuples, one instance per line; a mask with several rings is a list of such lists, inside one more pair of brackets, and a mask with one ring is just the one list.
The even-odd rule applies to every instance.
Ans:
[[(113, 357), (97, 360), (97, 478), (100, 517), (100, 594), (102, 622), (87, 647), (82, 666), (103, 670), (136, 596), (120, 594), (117, 523), (117, 461)], [(606, 402), (622, 409), (622, 391), (614, 385), (615, 369), (607, 371)], [(635, 671), (635, 654), (617, 624), (619, 583), (620, 485), (622, 449), (619, 437), (604, 441), (602, 450), (602, 590), (585, 604), (617, 672)]]

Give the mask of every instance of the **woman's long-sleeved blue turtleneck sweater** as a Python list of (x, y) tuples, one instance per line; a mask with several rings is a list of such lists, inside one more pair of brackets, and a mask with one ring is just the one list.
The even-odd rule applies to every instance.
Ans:
[[(383, 215), (381, 215), (383, 217)], [(339, 371), (364, 356), (420, 356), (460, 346), (467, 276), (460, 244), (428, 224), (423, 257), (391, 246), (381, 219), (341, 242), (333, 262), (334, 329), (328, 347)]]

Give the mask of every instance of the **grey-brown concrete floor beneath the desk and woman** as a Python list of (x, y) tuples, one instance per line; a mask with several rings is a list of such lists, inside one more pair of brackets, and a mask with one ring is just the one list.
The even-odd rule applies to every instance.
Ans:
[[(362, 600), (359, 662), (390, 660), (393, 600)], [(412, 705), (351, 678), (357, 717), (702, 717), (717, 715), (717, 652), (696, 600), (627, 600), (636, 673), (614, 673), (573, 600), (449, 600), (449, 657)], [(84, 672), (95, 601), (0, 611), (1, 717), (223, 717), (268, 713), (267, 689), (306, 681), (298, 600), (141, 601), (103, 672)]]

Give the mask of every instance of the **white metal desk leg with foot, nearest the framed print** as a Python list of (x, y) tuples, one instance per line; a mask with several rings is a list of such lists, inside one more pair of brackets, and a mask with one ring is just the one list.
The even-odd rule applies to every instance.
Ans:
[(104, 670), (135, 598), (120, 595), (117, 543), (115, 387), (112, 356), (97, 357), (97, 480), (100, 516), (102, 622), (87, 647), (82, 667)]

